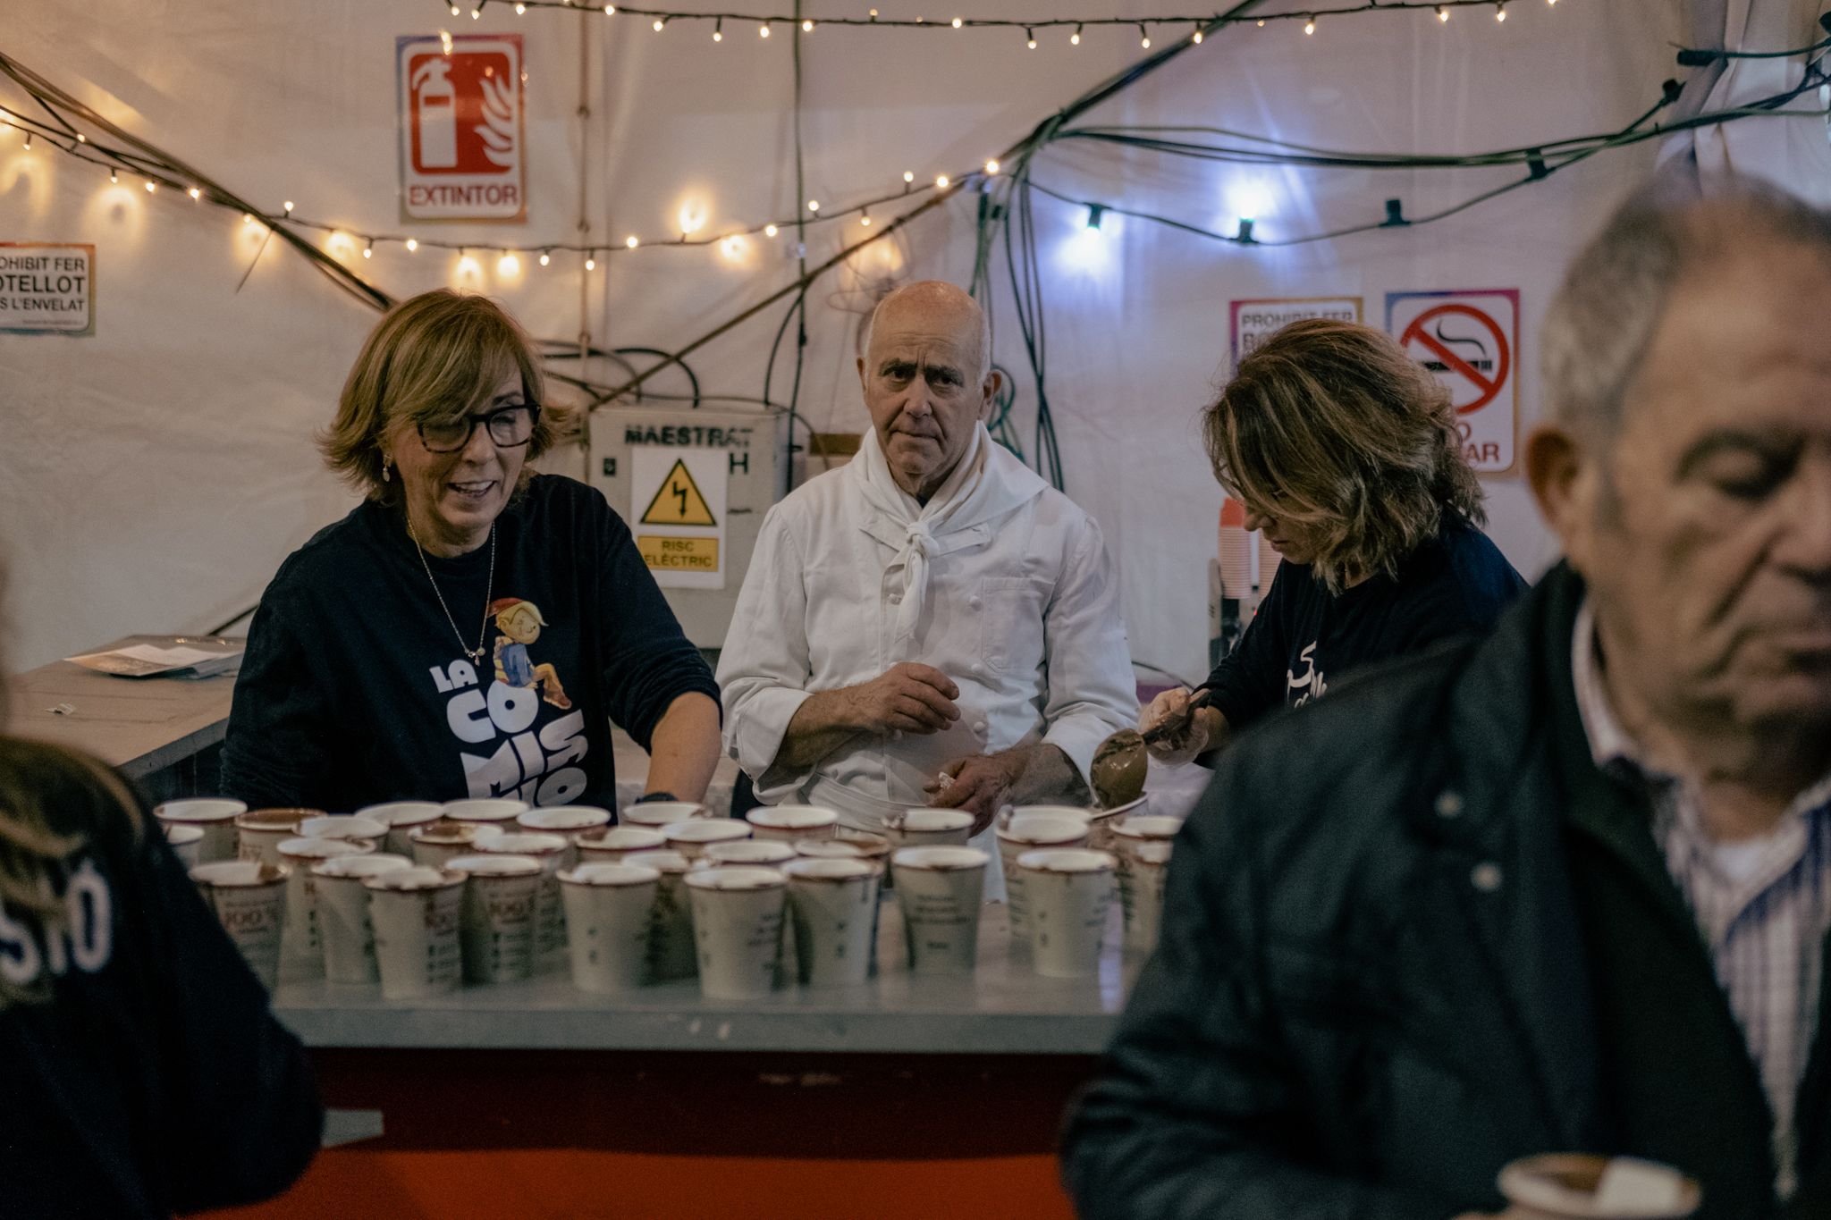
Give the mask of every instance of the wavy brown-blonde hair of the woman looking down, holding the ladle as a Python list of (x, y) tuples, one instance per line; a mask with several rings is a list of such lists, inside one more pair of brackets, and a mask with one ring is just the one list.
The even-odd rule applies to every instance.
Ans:
[(1201, 424), (1214, 477), (1249, 510), (1302, 527), (1331, 593), (1397, 576), (1446, 512), (1487, 523), (1448, 390), (1370, 326), (1285, 326)]

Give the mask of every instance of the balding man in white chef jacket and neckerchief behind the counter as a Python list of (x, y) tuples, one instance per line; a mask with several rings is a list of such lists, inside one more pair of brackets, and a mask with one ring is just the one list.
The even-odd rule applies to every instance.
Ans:
[(864, 830), (1088, 801), (1137, 712), (1119, 589), (1093, 519), (985, 432), (985, 313), (950, 284), (892, 293), (859, 382), (859, 455), (764, 519), (718, 666), (727, 750), (764, 801)]

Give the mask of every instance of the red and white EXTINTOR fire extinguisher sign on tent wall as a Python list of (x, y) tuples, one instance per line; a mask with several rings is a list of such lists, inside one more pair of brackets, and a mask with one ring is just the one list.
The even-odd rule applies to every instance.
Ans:
[(401, 216), (527, 219), (520, 35), (401, 37), (395, 70)]

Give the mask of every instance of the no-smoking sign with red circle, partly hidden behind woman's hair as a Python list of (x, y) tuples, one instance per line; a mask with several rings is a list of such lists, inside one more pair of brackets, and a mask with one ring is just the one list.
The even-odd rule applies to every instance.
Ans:
[(1436, 373), (1479, 474), (1512, 470), (1520, 419), (1520, 289), (1388, 293), (1386, 331)]

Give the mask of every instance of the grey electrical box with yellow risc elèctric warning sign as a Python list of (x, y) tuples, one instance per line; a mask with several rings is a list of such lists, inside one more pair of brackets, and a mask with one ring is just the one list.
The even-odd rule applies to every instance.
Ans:
[(789, 490), (775, 410), (612, 406), (591, 415), (586, 476), (698, 647), (723, 647), (764, 514)]

